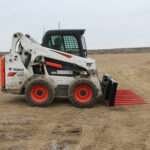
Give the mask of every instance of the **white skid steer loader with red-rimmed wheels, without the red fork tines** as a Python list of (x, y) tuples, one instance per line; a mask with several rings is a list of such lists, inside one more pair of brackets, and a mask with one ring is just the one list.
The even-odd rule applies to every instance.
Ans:
[(29, 35), (15, 33), (9, 54), (0, 59), (3, 92), (25, 95), (31, 106), (49, 106), (67, 98), (77, 107), (92, 107), (103, 100), (113, 106), (117, 82), (101, 79), (95, 60), (86, 58), (83, 31), (51, 31), (42, 45)]

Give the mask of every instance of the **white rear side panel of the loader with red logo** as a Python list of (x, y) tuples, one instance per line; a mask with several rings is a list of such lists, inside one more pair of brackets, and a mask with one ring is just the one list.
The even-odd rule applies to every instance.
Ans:
[(18, 54), (6, 55), (5, 61), (5, 89), (18, 92), (30, 77), (30, 72), (24, 67)]

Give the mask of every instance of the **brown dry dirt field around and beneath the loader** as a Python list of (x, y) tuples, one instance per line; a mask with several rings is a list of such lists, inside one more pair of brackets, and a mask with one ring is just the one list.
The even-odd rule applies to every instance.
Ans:
[[(92, 57), (100, 72), (150, 102), (150, 53)], [(150, 105), (31, 108), (24, 97), (1, 94), (0, 150), (150, 150)]]

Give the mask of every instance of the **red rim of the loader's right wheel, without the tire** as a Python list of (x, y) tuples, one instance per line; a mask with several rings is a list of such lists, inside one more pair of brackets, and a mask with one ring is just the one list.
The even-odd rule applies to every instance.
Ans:
[(80, 84), (74, 89), (74, 98), (80, 103), (89, 102), (93, 97), (93, 89), (88, 84)]

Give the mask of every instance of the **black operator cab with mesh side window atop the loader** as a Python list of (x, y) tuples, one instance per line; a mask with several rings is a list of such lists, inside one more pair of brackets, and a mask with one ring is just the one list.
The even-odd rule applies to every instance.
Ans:
[(87, 57), (85, 30), (49, 30), (42, 39), (42, 46), (73, 55)]

